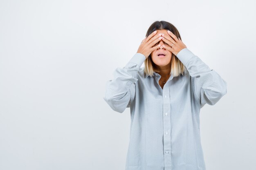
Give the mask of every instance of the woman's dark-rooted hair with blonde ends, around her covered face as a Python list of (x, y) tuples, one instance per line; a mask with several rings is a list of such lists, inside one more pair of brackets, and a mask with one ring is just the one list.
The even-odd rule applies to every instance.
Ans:
[[(148, 28), (148, 31), (146, 33), (146, 36), (150, 35), (151, 33), (153, 33), (155, 30), (162, 30), (162, 29), (166, 29), (166, 30), (170, 30), (177, 38), (180, 38), (180, 33), (179, 31), (176, 29), (175, 26), (173, 26), (173, 24), (166, 22), (166, 21), (155, 21), (153, 24), (151, 24), (151, 26)], [(153, 62), (152, 58), (151, 58), (151, 54), (146, 58), (146, 60), (144, 61), (144, 73), (153, 76), (154, 72), (160, 72), (159, 69), (157, 69), (155, 63)], [(171, 56), (171, 72), (170, 75), (173, 74), (173, 77), (177, 77), (180, 74), (183, 75), (183, 72), (185, 71), (185, 66), (182, 64), (182, 62), (174, 55), (172, 54)]]

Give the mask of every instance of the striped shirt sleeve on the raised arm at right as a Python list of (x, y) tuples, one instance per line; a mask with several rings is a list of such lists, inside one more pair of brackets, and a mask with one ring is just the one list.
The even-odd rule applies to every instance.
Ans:
[(182, 49), (177, 53), (177, 57), (189, 71), (193, 93), (200, 103), (200, 108), (205, 104), (216, 104), (227, 94), (227, 82), (189, 49)]

